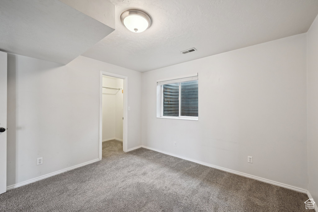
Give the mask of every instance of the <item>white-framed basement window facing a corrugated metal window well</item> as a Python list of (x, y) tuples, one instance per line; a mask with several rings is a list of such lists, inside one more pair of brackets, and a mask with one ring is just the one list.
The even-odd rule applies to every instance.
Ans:
[(198, 120), (197, 74), (158, 80), (157, 85), (157, 117)]

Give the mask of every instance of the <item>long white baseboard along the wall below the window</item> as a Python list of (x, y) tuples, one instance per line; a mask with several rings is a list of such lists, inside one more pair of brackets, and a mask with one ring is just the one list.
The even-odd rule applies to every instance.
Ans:
[(298, 187), (295, 187), (295, 186), (287, 185), (285, 183), (280, 183), (280, 182), (268, 180), (268, 179), (265, 179), (265, 178), (262, 178), (262, 177), (245, 174), (243, 172), (235, 171), (235, 170), (232, 170), (232, 169), (226, 169), (226, 168), (223, 168), (223, 167), (220, 167), (220, 166), (215, 166), (215, 165), (204, 163), (204, 162), (201, 162), (201, 161), (192, 160), (192, 159), (189, 159), (189, 158), (186, 158), (186, 157), (174, 155), (174, 154), (171, 154), (171, 153), (168, 153), (168, 152), (160, 151), (160, 150), (153, 149), (153, 148), (146, 147), (146, 146), (142, 146), (142, 148), (150, 149), (150, 150), (153, 150), (153, 151), (156, 151), (156, 152), (161, 152), (161, 153), (166, 154), (166, 155), (171, 155), (171, 156), (178, 157), (178, 158), (181, 158), (181, 159), (184, 159), (184, 160), (187, 160), (187, 161), (199, 163), (199, 164), (204, 165), (204, 166), (212, 167), (212, 168), (215, 168), (215, 169), (220, 169), (220, 170), (223, 170), (223, 171), (226, 171), (226, 172), (230, 172), (230, 173), (233, 173), (233, 174), (236, 174), (236, 175), (252, 178), (254, 180), (266, 182), (266, 183), (269, 183), (269, 184), (277, 185), (277, 186), (280, 186), (280, 187), (283, 187), (283, 188), (291, 189), (291, 190), (294, 190), (294, 191), (299, 191), (301, 193), (307, 193), (306, 189), (301, 189), (301, 188), (298, 188)]

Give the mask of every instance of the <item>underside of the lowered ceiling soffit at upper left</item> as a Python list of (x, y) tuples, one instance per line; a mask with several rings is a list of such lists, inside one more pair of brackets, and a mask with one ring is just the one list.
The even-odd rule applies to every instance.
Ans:
[(58, 0), (0, 0), (2, 51), (67, 64), (113, 30)]

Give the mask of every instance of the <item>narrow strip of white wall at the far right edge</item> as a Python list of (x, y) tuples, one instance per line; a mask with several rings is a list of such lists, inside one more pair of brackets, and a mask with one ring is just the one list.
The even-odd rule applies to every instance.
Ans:
[(307, 33), (308, 191), (318, 204), (318, 17)]

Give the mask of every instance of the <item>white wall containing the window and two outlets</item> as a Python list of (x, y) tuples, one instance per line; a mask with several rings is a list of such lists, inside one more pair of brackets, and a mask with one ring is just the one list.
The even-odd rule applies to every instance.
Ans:
[[(199, 120), (156, 118), (156, 80), (196, 72)], [(145, 72), (142, 86), (142, 145), (307, 189), (306, 34)]]

